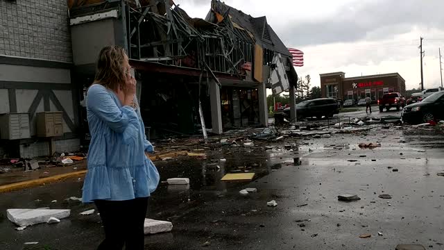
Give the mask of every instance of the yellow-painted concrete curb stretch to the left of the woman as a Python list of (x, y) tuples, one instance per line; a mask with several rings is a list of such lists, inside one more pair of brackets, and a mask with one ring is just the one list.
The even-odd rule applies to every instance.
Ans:
[(55, 176), (38, 178), (35, 180), (31, 180), (31, 181), (22, 181), (19, 183), (2, 185), (2, 186), (0, 186), (0, 194), (4, 193), (4, 192), (12, 192), (15, 190), (22, 190), (25, 188), (33, 188), (37, 185), (44, 185), (44, 184), (49, 184), (49, 183), (55, 183), (58, 181), (65, 181), (67, 178), (85, 176), (86, 172), (87, 172), (87, 170), (85, 169), (85, 170), (71, 172), (71, 173), (67, 173), (67, 174), (58, 174)]

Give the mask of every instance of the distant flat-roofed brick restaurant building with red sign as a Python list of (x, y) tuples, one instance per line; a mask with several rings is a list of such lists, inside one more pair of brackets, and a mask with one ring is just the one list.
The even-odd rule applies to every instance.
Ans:
[(320, 74), (322, 97), (345, 101), (370, 96), (373, 101), (390, 92), (405, 94), (405, 80), (398, 73), (345, 78), (344, 72)]

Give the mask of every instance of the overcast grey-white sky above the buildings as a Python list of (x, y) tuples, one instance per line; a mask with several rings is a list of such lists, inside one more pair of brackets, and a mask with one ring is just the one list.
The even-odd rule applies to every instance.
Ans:
[[(174, 0), (191, 17), (205, 18), (210, 0)], [(424, 38), (425, 88), (441, 85), (438, 48), (444, 50), (443, 0), (225, 0), (268, 24), (287, 47), (305, 53), (299, 76), (345, 72), (346, 77), (398, 72), (407, 89), (420, 83)], [(444, 54), (444, 53), (443, 53)], [(444, 60), (443, 60), (444, 62)]]

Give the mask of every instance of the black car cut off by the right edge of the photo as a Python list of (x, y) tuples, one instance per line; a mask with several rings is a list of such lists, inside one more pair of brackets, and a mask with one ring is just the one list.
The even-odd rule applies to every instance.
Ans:
[(444, 91), (435, 92), (421, 102), (410, 104), (402, 110), (402, 121), (409, 124), (444, 119)]

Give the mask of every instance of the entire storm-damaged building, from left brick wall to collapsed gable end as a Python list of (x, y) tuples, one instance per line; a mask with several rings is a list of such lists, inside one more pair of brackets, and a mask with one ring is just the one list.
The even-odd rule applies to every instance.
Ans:
[(0, 153), (88, 144), (85, 95), (107, 45), (128, 53), (151, 138), (267, 126), (266, 89), (296, 85), (291, 54), (266, 17), (208, 3), (200, 19), (171, 0), (0, 1)]

